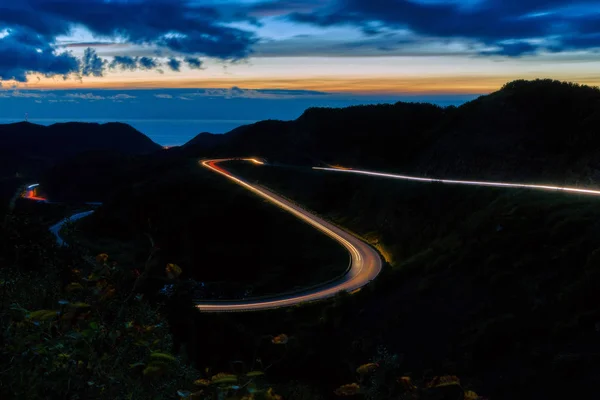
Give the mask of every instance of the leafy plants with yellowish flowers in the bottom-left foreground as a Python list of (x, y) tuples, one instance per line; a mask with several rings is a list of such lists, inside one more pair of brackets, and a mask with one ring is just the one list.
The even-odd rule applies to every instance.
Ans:
[(160, 306), (133, 295), (140, 277), (109, 264), (106, 254), (87, 277), (71, 272), (73, 280), (49, 293), (43, 309), (11, 293), (27, 288), (24, 276), (6, 288), (17, 301), (2, 315), (0, 397), (146, 399), (193, 381), (192, 368), (170, 354)]

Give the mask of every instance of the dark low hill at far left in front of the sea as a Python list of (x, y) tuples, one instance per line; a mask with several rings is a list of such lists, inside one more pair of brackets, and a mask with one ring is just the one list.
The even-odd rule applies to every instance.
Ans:
[(90, 150), (139, 155), (160, 148), (141, 132), (122, 123), (0, 125), (0, 170), (6, 174), (37, 175), (58, 161)]

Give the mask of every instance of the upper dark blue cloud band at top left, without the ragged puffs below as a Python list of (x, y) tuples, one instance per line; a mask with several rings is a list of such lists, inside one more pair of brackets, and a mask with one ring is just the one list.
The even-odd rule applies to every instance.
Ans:
[(248, 55), (256, 38), (229, 26), (232, 18), (190, 0), (28, 0), (5, 6), (0, 24), (21, 25), (46, 37), (82, 26), (107, 40), (124, 38), (186, 54), (239, 59)]

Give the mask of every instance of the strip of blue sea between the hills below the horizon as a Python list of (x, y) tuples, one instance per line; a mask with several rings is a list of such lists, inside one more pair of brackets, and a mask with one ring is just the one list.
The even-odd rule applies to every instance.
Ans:
[[(23, 119), (0, 118), (0, 124), (21, 122)], [(93, 119), (93, 118), (31, 118), (29, 122), (40, 125), (52, 125), (60, 122), (123, 122), (133, 126), (150, 139), (162, 146), (180, 146), (200, 132), (225, 133), (240, 125), (251, 124), (254, 120), (213, 120), (213, 119)]]

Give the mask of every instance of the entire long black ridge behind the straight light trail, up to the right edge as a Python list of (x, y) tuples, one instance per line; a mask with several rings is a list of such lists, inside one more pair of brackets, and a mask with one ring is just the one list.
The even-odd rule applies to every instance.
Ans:
[(439, 176), (589, 182), (600, 177), (600, 90), (514, 81), (460, 107), (396, 103), (309, 108), (221, 138), (201, 134), (189, 155), (383, 168)]

